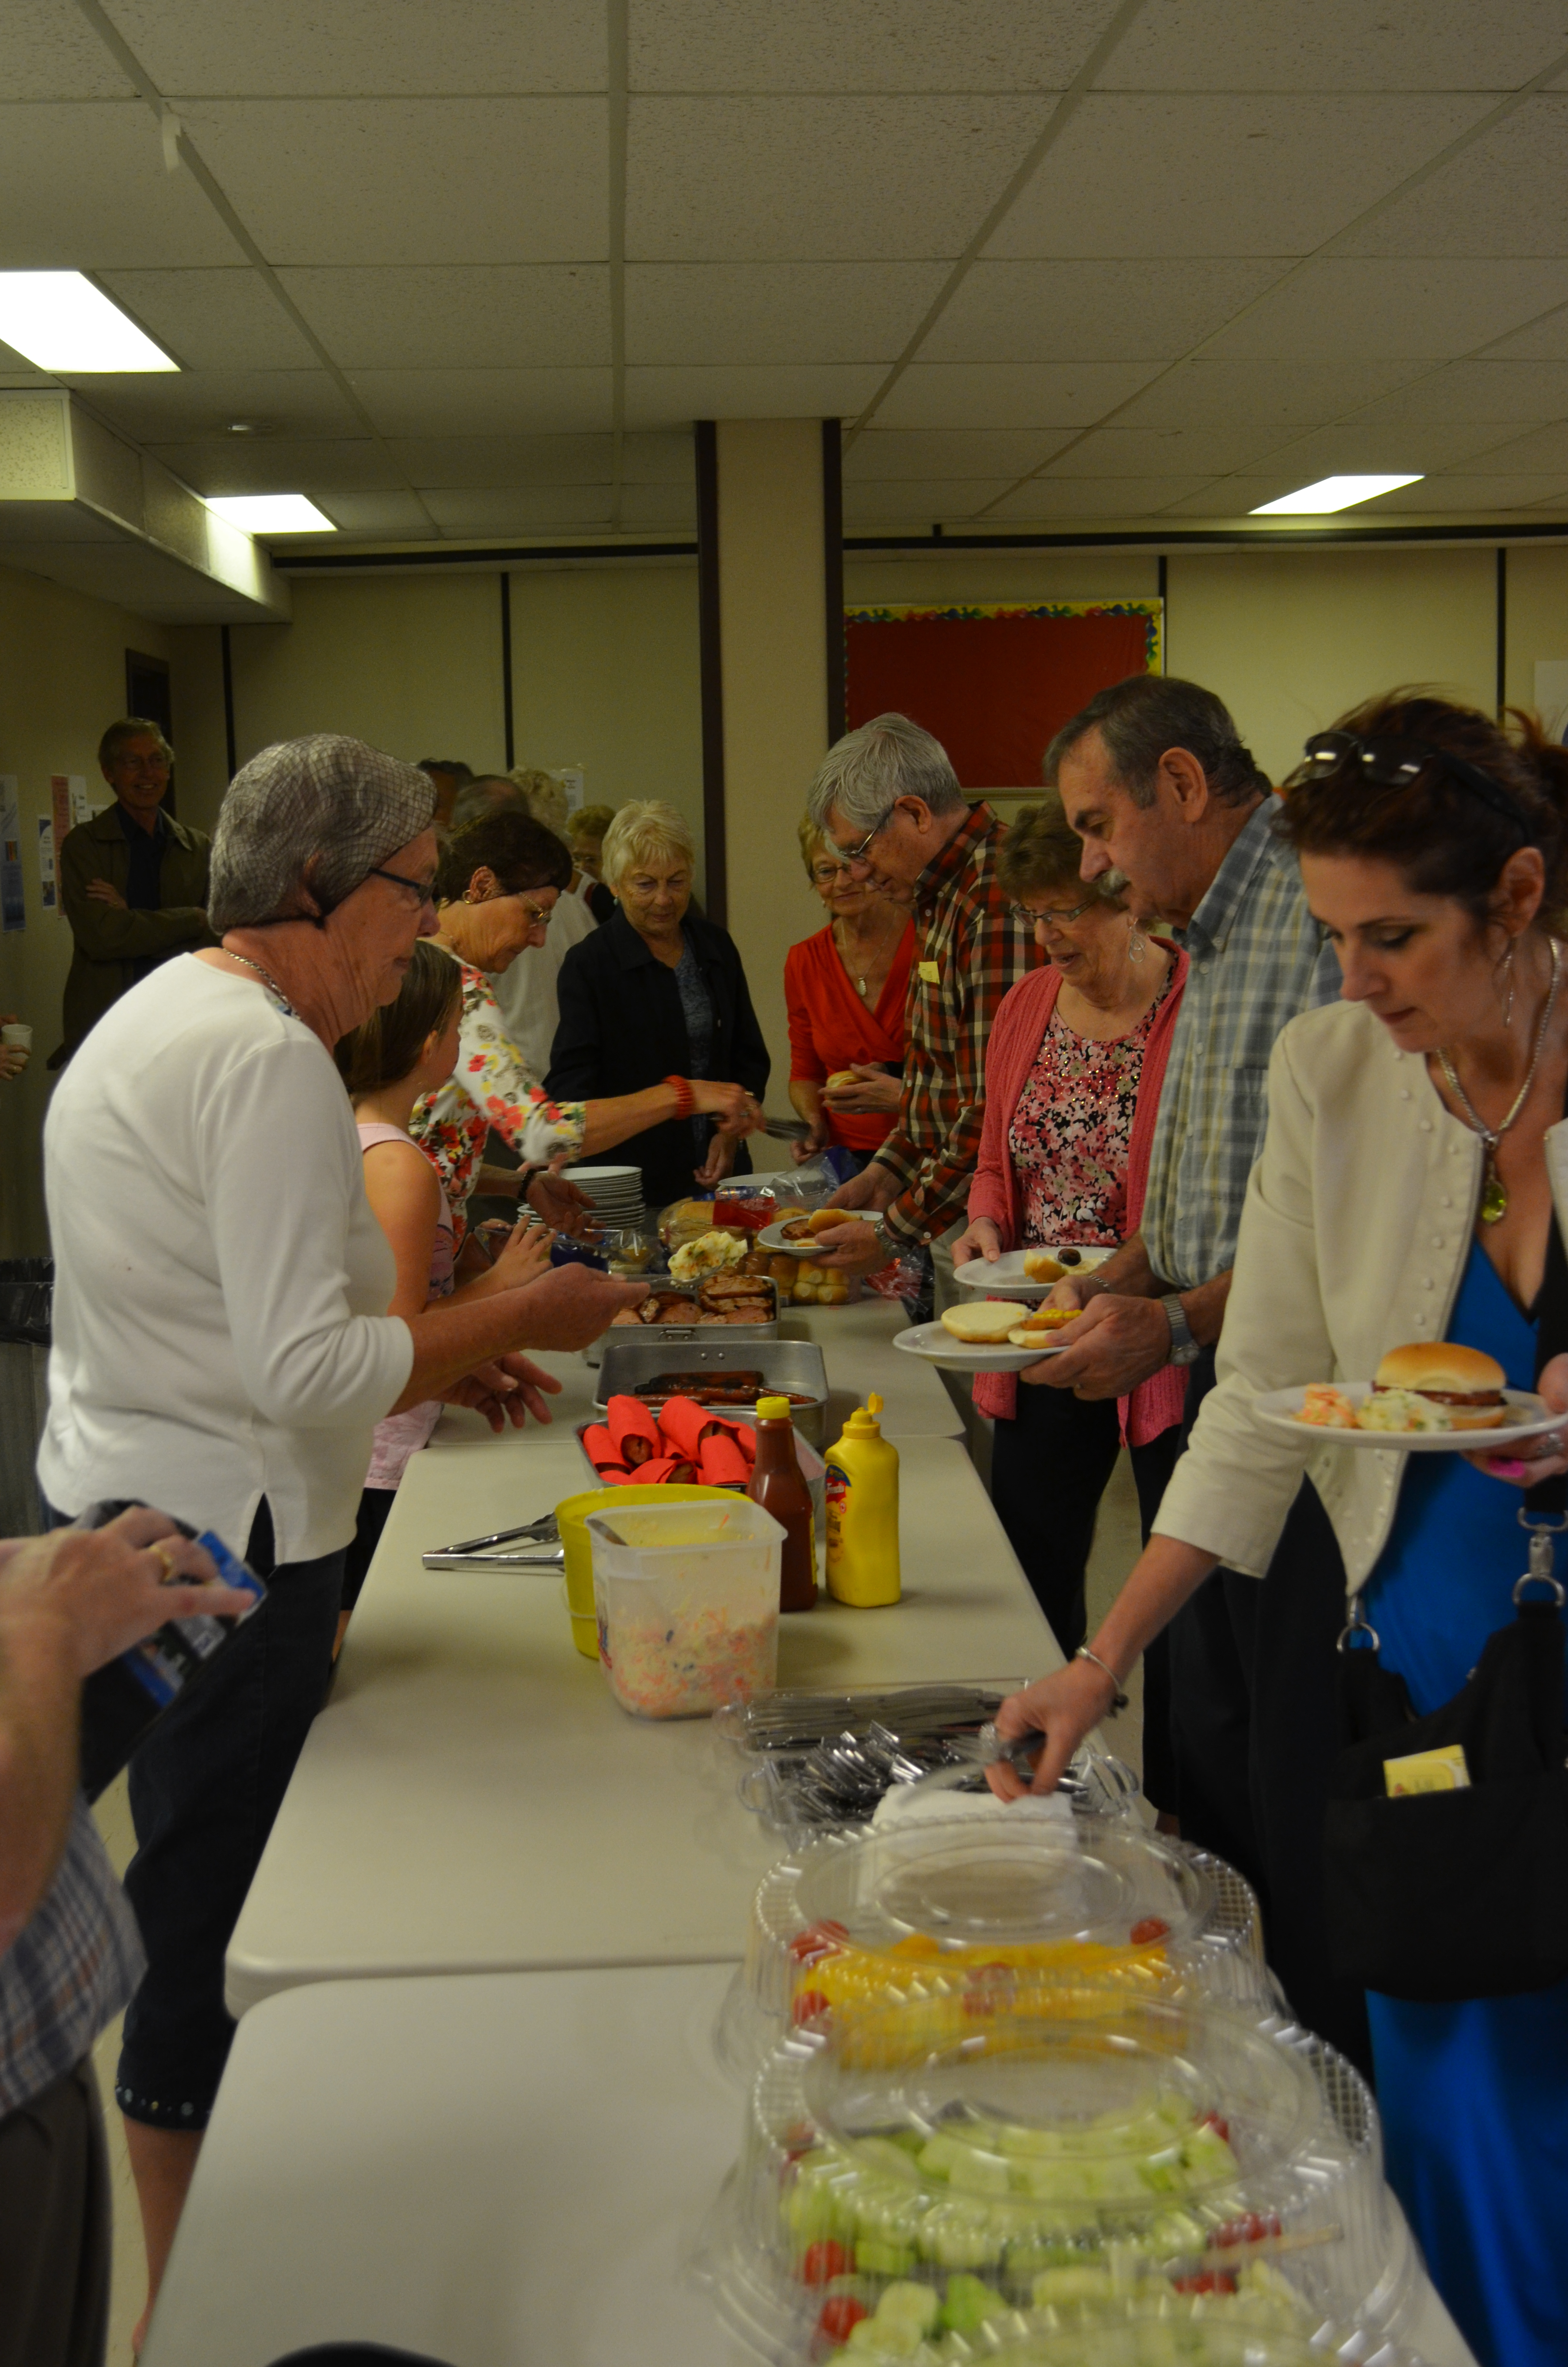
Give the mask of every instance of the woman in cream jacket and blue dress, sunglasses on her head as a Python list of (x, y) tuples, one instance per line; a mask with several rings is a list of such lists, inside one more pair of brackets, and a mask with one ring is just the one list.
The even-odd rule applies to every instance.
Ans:
[[(1341, 956), (1343, 999), (1274, 1046), (1220, 1378), (1153, 1536), (1092, 1657), (1002, 1709), (1004, 1733), (1045, 1730), (1042, 1789), (1215, 1565), (1267, 1584), (1307, 1465), (1350, 1595), (1419, 1716), (1459, 1692), (1514, 1617), (1516, 1489), (1568, 1470), (1556, 1432), (1509, 1456), (1400, 1456), (1336, 1449), (1307, 1425), (1296, 1439), (1255, 1413), (1270, 1389), (1367, 1380), (1414, 1340), (1461, 1340), (1511, 1385), (1535, 1382), (1547, 1129), (1568, 1105), (1568, 959), (1554, 935), (1568, 918), (1568, 750), (1523, 717), (1502, 729), (1393, 694), (1307, 743), (1279, 828)], [(1540, 1389), (1568, 1413), (1568, 1356)], [(1284, 1676), (1331, 1697), (1326, 1671)], [(1253, 1669), (1255, 1695), (1279, 1681)], [(1322, 1797), (1329, 1763), (1324, 1733), (1298, 1785)], [(1016, 1778), (992, 1771), (992, 1785)], [(1464, 1917), (1464, 1896), (1452, 1910)], [(1563, 2367), (1568, 1981), (1367, 2002), (1388, 2175), (1438, 2291), (1483, 2367)]]

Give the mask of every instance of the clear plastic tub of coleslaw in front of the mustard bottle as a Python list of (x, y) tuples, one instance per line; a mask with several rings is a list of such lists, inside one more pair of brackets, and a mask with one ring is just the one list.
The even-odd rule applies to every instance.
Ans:
[(587, 1536), (599, 1662), (621, 1707), (637, 1718), (706, 1718), (772, 1685), (779, 1522), (722, 1489), (703, 1503), (628, 1503), (630, 1489), (609, 1494), (611, 1503), (587, 1515)]

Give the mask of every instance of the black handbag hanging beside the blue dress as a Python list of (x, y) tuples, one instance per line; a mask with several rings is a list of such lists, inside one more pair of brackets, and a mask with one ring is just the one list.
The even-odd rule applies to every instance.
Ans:
[[(1547, 1240), (1535, 1370), (1568, 1347), (1568, 1259)], [(1563, 1588), (1551, 1539), (1568, 1486), (1528, 1491), (1516, 1617), (1464, 1688), (1416, 1718), (1405, 1678), (1352, 1605), (1341, 1636), (1341, 1749), (1329, 1775), (1324, 1894), (1338, 1979), (1388, 1998), (1506, 1998), (1568, 1979)], [(1542, 1598), (1544, 1588), (1544, 1598)], [(1388, 1797), (1386, 1759), (1464, 1744), (1469, 1789)]]

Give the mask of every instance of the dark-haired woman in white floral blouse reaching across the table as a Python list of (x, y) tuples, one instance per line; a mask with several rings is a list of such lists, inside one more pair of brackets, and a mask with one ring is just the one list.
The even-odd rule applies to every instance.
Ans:
[[(422, 1101), (410, 1134), (433, 1160), (462, 1238), (471, 1193), (523, 1191), (554, 1226), (580, 1221), (583, 1195), (552, 1162), (592, 1157), (682, 1110), (703, 1110), (725, 1134), (751, 1134), (763, 1112), (739, 1084), (677, 1077), (609, 1101), (552, 1101), (507, 1034), (486, 970), (505, 970), (545, 925), (571, 881), (571, 852), (528, 814), (500, 810), (455, 831), (436, 873), (441, 930), (436, 944), (462, 963), (460, 1051), (452, 1077)], [(486, 1136), (523, 1162), (486, 1167)]]

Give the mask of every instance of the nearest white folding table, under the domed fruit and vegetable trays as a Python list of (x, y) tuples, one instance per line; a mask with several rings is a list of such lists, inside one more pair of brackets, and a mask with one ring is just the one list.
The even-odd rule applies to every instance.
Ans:
[[(142, 2367), (348, 2339), (450, 2367), (732, 2367), (685, 2275), (739, 2147), (711, 2045), (727, 1976), (270, 1998), (239, 2024)], [(1407, 2339), (1473, 2367), (1431, 2287)]]

